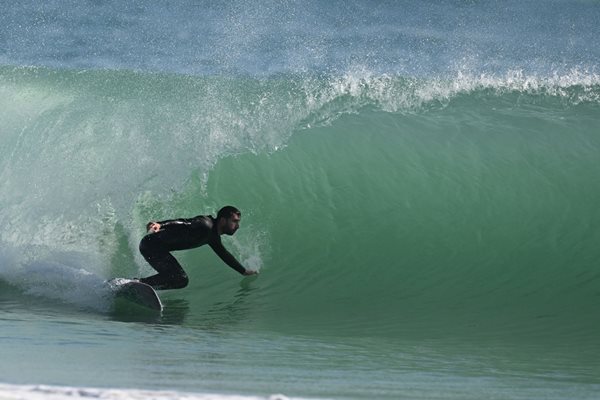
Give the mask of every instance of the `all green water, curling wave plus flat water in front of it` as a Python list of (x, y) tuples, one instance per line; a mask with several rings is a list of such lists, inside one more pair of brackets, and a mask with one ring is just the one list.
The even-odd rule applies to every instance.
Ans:
[[(1, 75), (3, 382), (597, 393), (596, 83)], [(223, 204), (258, 278), (180, 252), (162, 315), (115, 307), (146, 222)]]

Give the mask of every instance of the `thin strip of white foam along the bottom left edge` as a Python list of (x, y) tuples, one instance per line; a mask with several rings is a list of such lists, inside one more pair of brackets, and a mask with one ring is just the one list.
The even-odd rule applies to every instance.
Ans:
[[(69, 386), (0, 384), (0, 400), (292, 400), (281, 394), (267, 397), (162, 390), (100, 389)], [(299, 398), (293, 398), (299, 399)]]

